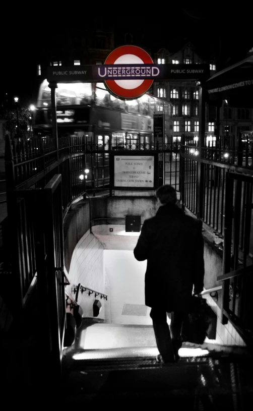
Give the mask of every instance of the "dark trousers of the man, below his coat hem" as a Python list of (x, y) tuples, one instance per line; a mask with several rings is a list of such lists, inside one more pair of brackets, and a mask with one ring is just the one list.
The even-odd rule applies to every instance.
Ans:
[(169, 327), (164, 309), (152, 308), (150, 311), (157, 348), (165, 362), (178, 360), (178, 349), (182, 345), (180, 333), (184, 315), (181, 312), (172, 312)]

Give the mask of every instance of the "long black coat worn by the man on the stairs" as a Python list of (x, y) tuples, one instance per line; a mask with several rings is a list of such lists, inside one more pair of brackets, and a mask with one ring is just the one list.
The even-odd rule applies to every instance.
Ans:
[(147, 261), (145, 304), (167, 312), (187, 312), (193, 291), (204, 281), (202, 223), (176, 205), (159, 207), (144, 221), (134, 249), (138, 261)]

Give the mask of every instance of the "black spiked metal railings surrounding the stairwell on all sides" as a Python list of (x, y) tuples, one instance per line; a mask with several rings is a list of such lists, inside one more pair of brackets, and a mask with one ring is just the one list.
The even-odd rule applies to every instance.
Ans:
[[(107, 141), (105, 135), (108, 137)], [(63, 257), (59, 248), (62, 246), (62, 234), (60, 233), (62, 210), (65, 212), (74, 199), (89, 191), (93, 195), (99, 190), (107, 190), (108, 194), (112, 194), (109, 179), (110, 153), (115, 153), (115, 150), (154, 152), (154, 149), (159, 154), (159, 158), (163, 160), (163, 181), (172, 184), (176, 190), (180, 191), (183, 206), (202, 218), (215, 231), (224, 235), (227, 174), (237, 172), (241, 175), (253, 176), (252, 151), (250, 151), (249, 144), (243, 145), (241, 138), (238, 144), (235, 144), (234, 138), (227, 140), (225, 137), (220, 137), (215, 146), (206, 138), (205, 146), (201, 148), (200, 153), (194, 138), (184, 135), (181, 136), (180, 142), (159, 145), (151, 139), (123, 146), (121, 142), (112, 141), (111, 134), (107, 132), (102, 132), (93, 138), (85, 136), (61, 137), (57, 142), (52, 138), (41, 137), (30, 140), (6, 139), (8, 217), (12, 225), (12, 232), (17, 232), (17, 237), (14, 240), (15, 256), (13, 261), (17, 257), (17, 263), (14, 265), (16, 264), (15, 272), (18, 283), (16, 289), (22, 300), (21, 306), (25, 304), (36, 280), (37, 261), (42, 261), (41, 257), (38, 260), (38, 251), (36, 252), (38, 241), (36, 232), (41, 230), (44, 232), (44, 228), (40, 226), (40, 230), (35, 230), (37, 223), (34, 207), (38, 203), (31, 201), (32, 195), (42, 191), (46, 193), (46, 187), (47, 189), (50, 187), (51, 190), (49, 190), (51, 197), (47, 202), (50, 207), (47, 208), (47, 212), (52, 224), (50, 229), (48, 228), (50, 232), (45, 233), (45, 236), (49, 236), (48, 239), (51, 238), (51, 243), (48, 241), (56, 253), (55, 255), (59, 258), (57, 261), (52, 261), (50, 265), (54, 284), (52, 285), (54, 297), (51, 300), (52, 304), (55, 304), (55, 301), (58, 304), (54, 306), (57, 318), (55, 317), (53, 322), (57, 324), (58, 331), (61, 330), (60, 340), (57, 339), (58, 334), (55, 334), (56, 346), (59, 347), (58, 354), (62, 339), (62, 324), (65, 318), (65, 299), (64, 292), (62, 292), (62, 289), (64, 290)], [(59, 194), (59, 186), (55, 182), (56, 174), (61, 174), (60, 191), (62, 196)], [(251, 226), (249, 204), (252, 203), (252, 186), (248, 184), (242, 183), (241, 194), (238, 194), (238, 189), (235, 192), (235, 201), (241, 201), (240, 211), (238, 211), (238, 206), (236, 208), (236, 221), (238, 221), (239, 213), (240, 223), (239, 231), (238, 227), (234, 229), (231, 241), (233, 250), (237, 248), (246, 255), (247, 259), (252, 256), (251, 231), (248, 228)], [(55, 197), (54, 190), (57, 193)], [(52, 198), (55, 200), (53, 201)], [(238, 225), (238, 222), (236, 224)], [(236, 224), (235, 226), (237, 226)], [(236, 240), (238, 232), (240, 232), (239, 242)], [(52, 238), (54, 238), (53, 242)], [(42, 251), (39, 255), (42, 255)], [(51, 279), (48, 281), (50, 282)], [(48, 308), (49, 311), (51, 309), (52, 307)]]

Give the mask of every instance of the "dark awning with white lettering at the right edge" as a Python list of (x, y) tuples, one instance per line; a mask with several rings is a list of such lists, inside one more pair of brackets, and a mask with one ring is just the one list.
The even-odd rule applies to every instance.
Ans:
[(208, 101), (232, 107), (253, 107), (253, 56), (216, 73), (206, 81)]

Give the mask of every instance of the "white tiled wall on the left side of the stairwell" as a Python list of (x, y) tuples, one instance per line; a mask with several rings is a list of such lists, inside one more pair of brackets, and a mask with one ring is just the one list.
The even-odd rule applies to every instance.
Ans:
[[(103, 266), (103, 246), (90, 231), (87, 231), (77, 243), (72, 255), (69, 277), (71, 285), (67, 291), (75, 299), (74, 288), (79, 283), (99, 292), (105, 292), (105, 276)], [(83, 309), (83, 317), (93, 317), (93, 303), (99, 300), (102, 304), (99, 316), (104, 319), (104, 299), (100, 295), (95, 298), (89, 291), (79, 292), (78, 304)]]

